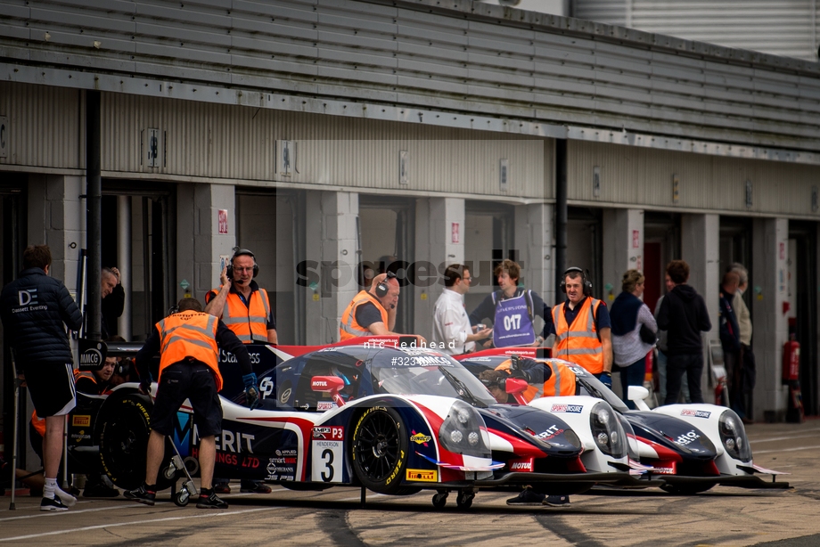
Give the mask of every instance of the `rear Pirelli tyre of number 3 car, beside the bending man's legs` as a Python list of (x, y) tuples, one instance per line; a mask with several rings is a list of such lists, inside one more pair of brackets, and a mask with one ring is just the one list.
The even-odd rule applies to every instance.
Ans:
[[(96, 428), (102, 470), (119, 488), (133, 490), (143, 484), (152, 409), (151, 398), (138, 393), (113, 394), (102, 404)], [(168, 440), (165, 453), (157, 477), (159, 490), (176, 480), (162, 472), (173, 453)]]

